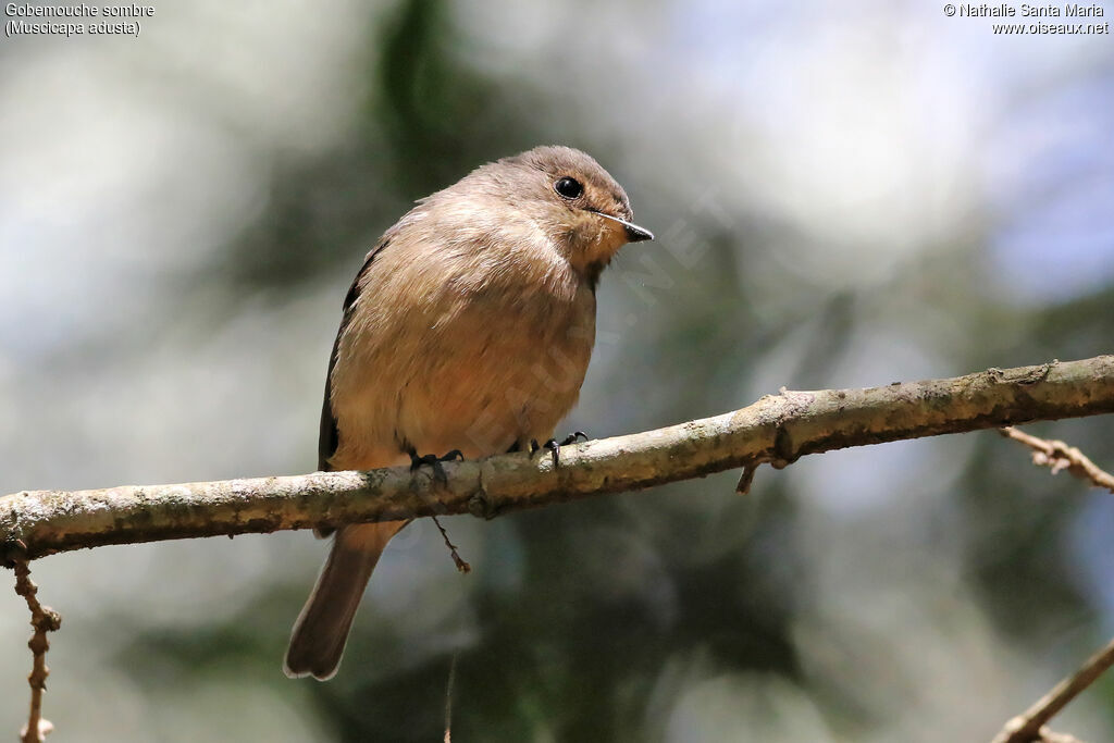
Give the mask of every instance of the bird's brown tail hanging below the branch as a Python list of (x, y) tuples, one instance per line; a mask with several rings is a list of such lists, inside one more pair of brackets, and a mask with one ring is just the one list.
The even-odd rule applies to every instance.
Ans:
[(344, 654), (363, 589), (387, 542), (408, 521), (346, 526), (336, 531), (332, 551), (302, 614), (294, 623), (283, 672), (291, 678), (332, 678)]

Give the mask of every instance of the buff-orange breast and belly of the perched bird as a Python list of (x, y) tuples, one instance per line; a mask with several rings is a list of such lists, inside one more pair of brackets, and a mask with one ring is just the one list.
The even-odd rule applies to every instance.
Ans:
[(590, 287), (556, 262), (422, 267), (367, 287), (342, 336), (334, 459), (481, 457), (551, 436), (592, 355)]

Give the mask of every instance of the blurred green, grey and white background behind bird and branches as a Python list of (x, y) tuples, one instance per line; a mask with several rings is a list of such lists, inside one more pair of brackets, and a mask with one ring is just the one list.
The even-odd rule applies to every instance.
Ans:
[[(658, 237), (605, 274), (561, 430), (1112, 351), (1110, 36), (882, 0), (155, 8), (137, 39), (0, 39), (0, 492), (312, 470), (367, 250), (537, 144)], [(1027, 428), (1106, 468), (1112, 429)], [(457, 654), (457, 741), (979, 741), (1114, 633), (1111, 495), (993, 432), (736, 477), (447, 519), (468, 576), (411, 526), (328, 684), (280, 671), (309, 532), (37, 561), (46, 716), (433, 741)], [(0, 590), (9, 736), (27, 622)], [(1114, 678), (1055, 727), (1114, 740)]]

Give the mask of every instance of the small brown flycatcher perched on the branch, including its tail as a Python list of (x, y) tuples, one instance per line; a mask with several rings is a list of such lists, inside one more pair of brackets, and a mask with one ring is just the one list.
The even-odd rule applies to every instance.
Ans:
[[(625, 243), (654, 237), (632, 218), (623, 188), (569, 147), (489, 163), (419, 201), (344, 299), (319, 469), (438, 467), (433, 454), (532, 451), (553, 436), (588, 369), (600, 272)], [(336, 673), (371, 571), (408, 522), (336, 530), (286, 675)]]

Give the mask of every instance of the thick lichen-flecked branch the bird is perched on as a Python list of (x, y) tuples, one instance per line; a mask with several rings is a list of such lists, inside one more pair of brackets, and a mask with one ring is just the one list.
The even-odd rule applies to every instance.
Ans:
[(159, 539), (270, 532), (442, 514), (499, 514), (641, 490), (804, 454), (1114, 412), (1114, 356), (862, 390), (766, 395), (742, 410), (561, 449), (444, 465), (0, 498), (0, 545), (27, 556)]

